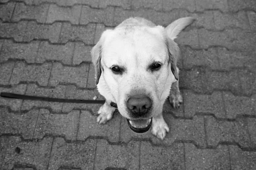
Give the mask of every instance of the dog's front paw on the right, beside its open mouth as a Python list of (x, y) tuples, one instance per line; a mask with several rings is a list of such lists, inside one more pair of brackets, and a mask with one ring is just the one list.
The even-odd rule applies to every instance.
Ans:
[(166, 132), (169, 132), (169, 127), (164, 121), (163, 116), (159, 119), (155, 119), (153, 117), (151, 133), (153, 133), (154, 136), (157, 136), (157, 138), (163, 140), (166, 136)]

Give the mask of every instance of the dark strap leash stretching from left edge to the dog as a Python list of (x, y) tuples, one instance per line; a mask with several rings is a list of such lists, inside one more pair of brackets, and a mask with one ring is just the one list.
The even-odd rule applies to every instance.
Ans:
[[(105, 103), (105, 100), (60, 99), (60, 98), (53, 98), (53, 97), (29, 96), (29, 95), (23, 95), (23, 94), (7, 93), (7, 92), (1, 92), (0, 96), (5, 98), (12, 98), (12, 99), (39, 100), (39, 101), (46, 101), (46, 102), (88, 103), (88, 104), (104, 104)], [(110, 105), (114, 108), (117, 108), (117, 105), (114, 102), (111, 102)]]

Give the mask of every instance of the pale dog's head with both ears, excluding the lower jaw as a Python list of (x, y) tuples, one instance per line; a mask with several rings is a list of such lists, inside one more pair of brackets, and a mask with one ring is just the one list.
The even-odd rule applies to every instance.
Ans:
[(178, 79), (177, 55), (177, 44), (161, 26), (107, 30), (92, 50), (96, 82), (106, 84), (126, 119), (148, 120), (162, 108), (169, 74), (172, 82)]

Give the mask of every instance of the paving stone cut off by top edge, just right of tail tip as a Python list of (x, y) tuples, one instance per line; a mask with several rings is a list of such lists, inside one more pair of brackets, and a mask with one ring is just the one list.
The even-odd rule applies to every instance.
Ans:
[(207, 9), (228, 11), (227, 0), (195, 0), (195, 5), (196, 11), (205, 11)]

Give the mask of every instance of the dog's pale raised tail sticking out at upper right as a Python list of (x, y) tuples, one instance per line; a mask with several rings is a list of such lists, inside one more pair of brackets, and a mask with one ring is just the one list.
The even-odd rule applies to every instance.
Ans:
[(186, 28), (186, 26), (189, 26), (194, 21), (195, 21), (195, 18), (193, 17), (184, 17), (184, 18), (175, 20), (165, 28), (167, 36), (172, 40), (175, 40), (175, 38), (177, 38), (177, 35), (180, 34), (180, 32), (184, 28)]

